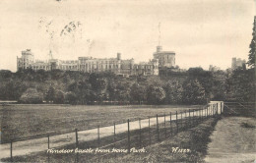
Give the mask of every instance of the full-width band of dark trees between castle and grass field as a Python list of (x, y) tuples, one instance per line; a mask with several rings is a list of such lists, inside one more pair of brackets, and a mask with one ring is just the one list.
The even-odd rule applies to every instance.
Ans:
[[(0, 71), (0, 99), (20, 103), (204, 104), (207, 100), (253, 100), (254, 69), (185, 75), (134, 76), (53, 70)], [(254, 88), (254, 89), (253, 89)], [(254, 94), (255, 95), (255, 94)]]

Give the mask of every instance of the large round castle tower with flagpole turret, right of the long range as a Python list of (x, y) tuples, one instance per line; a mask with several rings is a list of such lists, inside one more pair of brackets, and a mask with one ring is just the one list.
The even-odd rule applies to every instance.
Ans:
[(157, 46), (157, 52), (153, 54), (154, 59), (159, 60), (160, 68), (171, 68), (175, 66), (175, 52), (162, 51), (161, 46)]

